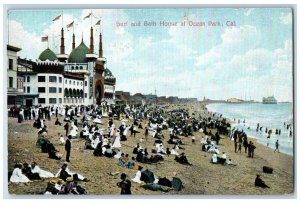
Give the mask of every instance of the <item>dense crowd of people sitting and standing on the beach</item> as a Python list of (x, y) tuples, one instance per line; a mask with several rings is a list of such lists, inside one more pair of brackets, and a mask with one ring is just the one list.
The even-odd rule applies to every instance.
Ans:
[[(209, 112), (206, 116), (200, 114), (196, 116), (195, 113), (190, 114), (188, 109), (183, 108), (167, 111), (159, 106), (144, 105), (48, 106), (11, 110), (11, 116), (16, 115), (19, 122), (27, 119), (34, 120), (33, 127), (39, 129), (36, 147), (40, 148), (42, 153), (48, 153), (50, 159), (66, 161), (55, 176), (40, 169), (36, 163), (32, 163), (31, 166), (16, 164), (10, 181), (27, 183), (31, 180), (50, 178), (45, 194), (87, 194), (78, 182), (89, 180), (68, 169), (67, 163), (73, 162), (73, 139), (84, 140), (83, 148), (91, 150), (91, 154), (96, 157), (107, 157), (112, 160), (115, 158), (119, 166), (136, 170), (135, 177), (131, 179), (136, 183), (142, 182), (142, 165), (145, 167), (147, 164), (162, 162), (166, 156), (173, 156), (175, 163), (193, 166), (194, 163), (188, 160), (189, 154), (185, 153), (185, 149), (190, 144), (199, 145), (199, 151), (212, 153), (212, 163), (228, 166), (237, 164), (225, 151), (220, 155), (219, 146), (224, 137), (233, 140), (235, 153), (242, 153), (243, 146), (248, 157), (254, 158), (256, 148), (252, 141), (248, 142), (247, 135), (243, 131), (232, 130), (230, 123), (222, 115)], [(51, 122), (53, 116), (56, 117), (57, 128), (65, 131), (57, 135), (59, 144), (65, 147), (65, 158), (64, 153), (59, 152), (53, 141), (47, 138), (46, 122)], [(63, 121), (60, 121), (62, 118)], [(107, 126), (102, 123), (103, 118), (108, 119)], [(202, 134), (201, 140), (195, 136), (199, 132)], [(166, 137), (166, 134), (169, 137)], [(151, 137), (153, 148), (148, 152), (141, 143), (136, 143), (132, 147), (132, 154), (122, 152), (122, 146), (126, 141), (135, 137), (139, 137), (142, 143), (148, 142)], [(183, 140), (190, 140), (190, 143), (185, 143)], [(165, 148), (164, 145), (173, 145), (173, 147)], [(165, 190), (164, 187), (169, 187), (169, 185), (160, 185), (158, 181), (159, 179), (154, 178), (148, 188)], [(121, 194), (131, 194), (131, 181), (125, 173), (121, 175), (121, 182), (117, 186), (121, 188)]]

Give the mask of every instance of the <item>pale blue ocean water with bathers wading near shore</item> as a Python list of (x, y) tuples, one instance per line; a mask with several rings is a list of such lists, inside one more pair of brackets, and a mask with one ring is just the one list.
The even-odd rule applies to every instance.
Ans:
[[(278, 103), (278, 104), (262, 104), (262, 103), (215, 103), (207, 105), (210, 112), (222, 114), (223, 117), (235, 122), (232, 127), (244, 132), (249, 137), (258, 139), (258, 142), (266, 145), (268, 143), (266, 128), (272, 129), (269, 147), (275, 149), (275, 142), (279, 140), (280, 152), (293, 155), (293, 104)], [(240, 120), (240, 123), (238, 123)], [(245, 120), (245, 123), (243, 121)], [(284, 127), (284, 122), (292, 124), (292, 137), (290, 130)], [(262, 131), (256, 132), (256, 126), (259, 123), (263, 126)], [(276, 135), (276, 129), (281, 129), (281, 135)]]

